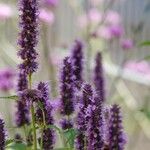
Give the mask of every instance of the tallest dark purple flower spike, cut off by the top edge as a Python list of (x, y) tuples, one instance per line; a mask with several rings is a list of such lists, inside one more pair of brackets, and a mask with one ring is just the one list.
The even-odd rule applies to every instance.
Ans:
[(20, 2), (20, 37), (18, 44), (20, 50), (18, 55), (23, 59), (23, 63), (19, 68), (26, 74), (32, 74), (37, 69), (37, 18), (38, 7), (37, 0), (21, 0)]

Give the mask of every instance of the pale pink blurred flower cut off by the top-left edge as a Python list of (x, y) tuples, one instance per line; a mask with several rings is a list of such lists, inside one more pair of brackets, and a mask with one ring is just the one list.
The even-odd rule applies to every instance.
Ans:
[(8, 19), (13, 15), (11, 7), (6, 4), (0, 4), (0, 19)]

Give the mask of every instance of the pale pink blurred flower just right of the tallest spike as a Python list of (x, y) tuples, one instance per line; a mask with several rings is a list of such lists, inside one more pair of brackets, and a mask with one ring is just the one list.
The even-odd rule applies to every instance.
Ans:
[(49, 24), (53, 24), (55, 19), (53, 12), (45, 9), (40, 10), (39, 18), (41, 21)]

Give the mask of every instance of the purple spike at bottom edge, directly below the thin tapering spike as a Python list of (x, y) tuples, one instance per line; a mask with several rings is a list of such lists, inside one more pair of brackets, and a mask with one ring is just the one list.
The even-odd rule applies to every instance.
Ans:
[(103, 116), (102, 106), (91, 106), (88, 125), (88, 150), (103, 150)]

